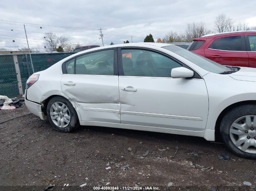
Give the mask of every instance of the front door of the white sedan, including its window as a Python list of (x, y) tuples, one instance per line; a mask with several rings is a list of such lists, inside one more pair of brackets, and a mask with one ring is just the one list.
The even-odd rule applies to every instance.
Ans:
[(151, 49), (118, 50), (121, 123), (202, 131), (208, 117), (203, 79), (174, 79), (182, 63)]

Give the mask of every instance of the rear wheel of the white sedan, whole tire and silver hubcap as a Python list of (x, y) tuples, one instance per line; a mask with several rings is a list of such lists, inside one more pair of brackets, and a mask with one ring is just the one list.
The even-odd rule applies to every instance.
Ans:
[(50, 124), (59, 132), (71, 132), (79, 126), (75, 108), (64, 97), (56, 96), (50, 99), (46, 112)]

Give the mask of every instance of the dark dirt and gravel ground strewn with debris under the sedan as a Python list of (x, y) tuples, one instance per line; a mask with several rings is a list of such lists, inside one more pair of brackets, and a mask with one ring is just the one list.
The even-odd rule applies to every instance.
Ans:
[[(0, 123), (26, 113), (25, 105), (0, 110)], [(0, 124), (0, 133), (0, 190), (255, 190), (256, 161), (204, 138), (96, 126), (60, 133), (33, 114)]]

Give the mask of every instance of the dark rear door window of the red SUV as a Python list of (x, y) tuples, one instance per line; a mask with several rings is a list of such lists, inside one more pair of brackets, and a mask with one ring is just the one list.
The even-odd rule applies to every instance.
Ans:
[(209, 46), (209, 48), (216, 50), (242, 51), (241, 36), (218, 38)]

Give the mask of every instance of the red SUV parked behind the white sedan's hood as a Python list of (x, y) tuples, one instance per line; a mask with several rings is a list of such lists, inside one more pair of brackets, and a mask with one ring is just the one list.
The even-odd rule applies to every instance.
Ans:
[(222, 65), (256, 68), (256, 31), (208, 34), (193, 39), (188, 50)]

